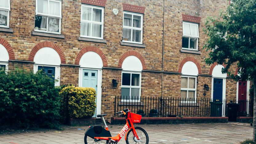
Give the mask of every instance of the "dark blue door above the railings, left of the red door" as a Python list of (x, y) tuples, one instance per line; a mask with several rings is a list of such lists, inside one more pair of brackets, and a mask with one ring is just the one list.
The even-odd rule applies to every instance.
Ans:
[(213, 79), (213, 101), (222, 101), (223, 79)]

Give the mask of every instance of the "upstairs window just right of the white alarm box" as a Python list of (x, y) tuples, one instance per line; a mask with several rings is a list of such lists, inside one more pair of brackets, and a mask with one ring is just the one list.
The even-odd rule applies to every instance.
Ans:
[(143, 15), (123, 13), (123, 42), (142, 44)]

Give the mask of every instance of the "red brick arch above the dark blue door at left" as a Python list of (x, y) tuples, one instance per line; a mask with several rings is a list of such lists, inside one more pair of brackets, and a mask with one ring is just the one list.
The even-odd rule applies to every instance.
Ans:
[(49, 42), (49, 41), (45, 41), (45, 42), (39, 42), (30, 52), (29, 54), (29, 58), (28, 60), (33, 62), (34, 61), (34, 57), (35, 57), (35, 54), (38, 52), (38, 50), (44, 48), (44, 47), (50, 47), (54, 50), (57, 51), (57, 53), (59, 54), (60, 56), (60, 60), (61, 60), (61, 63), (65, 64), (66, 63), (66, 58), (65, 58), (65, 55), (62, 51), (62, 49), (56, 45), (55, 43), (53, 42)]

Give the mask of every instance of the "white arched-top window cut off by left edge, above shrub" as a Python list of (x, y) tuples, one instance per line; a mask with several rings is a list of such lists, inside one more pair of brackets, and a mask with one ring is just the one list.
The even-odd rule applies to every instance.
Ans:
[(0, 44), (0, 69), (8, 71), (9, 54), (6, 48)]

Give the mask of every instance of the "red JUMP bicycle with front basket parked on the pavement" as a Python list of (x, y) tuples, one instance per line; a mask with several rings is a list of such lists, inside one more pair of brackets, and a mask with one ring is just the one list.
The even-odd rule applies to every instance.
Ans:
[(98, 118), (102, 118), (105, 129), (102, 126), (89, 126), (89, 129), (85, 132), (84, 143), (85, 144), (117, 144), (123, 136), (125, 136), (126, 144), (148, 144), (149, 138), (147, 132), (141, 127), (134, 127), (133, 123), (140, 123), (141, 115), (131, 113), (129, 109), (117, 112), (116, 114), (125, 115), (126, 124), (117, 136), (112, 137), (108, 126), (104, 120), (104, 116), (107, 114), (98, 114)]

